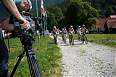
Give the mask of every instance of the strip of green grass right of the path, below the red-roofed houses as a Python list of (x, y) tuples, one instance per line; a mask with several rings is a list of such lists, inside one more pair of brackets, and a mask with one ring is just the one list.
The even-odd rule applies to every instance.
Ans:
[(116, 47), (116, 34), (88, 34), (87, 38), (89, 42)]

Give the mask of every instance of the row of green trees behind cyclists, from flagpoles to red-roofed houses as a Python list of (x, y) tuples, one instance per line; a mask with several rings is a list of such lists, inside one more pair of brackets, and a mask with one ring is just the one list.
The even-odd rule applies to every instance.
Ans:
[(86, 24), (88, 27), (95, 25), (96, 19), (99, 17), (99, 11), (95, 9), (90, 0), (64, 0), (60, 6), (51, 6), (48, 8), (49, 17), (54, 14), (54, 17), (48, 18), (55, 23), (48, 22), (50, 27), (53, 25), (69, 26)]

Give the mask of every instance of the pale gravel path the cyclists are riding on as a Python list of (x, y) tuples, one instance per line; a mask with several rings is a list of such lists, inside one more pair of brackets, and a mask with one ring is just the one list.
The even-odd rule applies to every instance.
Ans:
[[(68, 42), (68, 40), (67, 40)], [(116, 49), (75, 41), (74, 46), (65, 45), (58, 38), (63, 55), (63, 77), (116, 77)]]

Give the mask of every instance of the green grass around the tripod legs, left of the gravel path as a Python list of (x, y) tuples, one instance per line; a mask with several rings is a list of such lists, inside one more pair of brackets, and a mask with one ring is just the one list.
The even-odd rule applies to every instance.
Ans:
[[(7, 40), (5, 40), (7, 42)], [(48, 37), (41, 37), (33, 44), (39, 66), (43, 77), (62, 77), (60, 49)], [(16, 63), (17, 56), (21, 53), (22, 47), (19, 38), (10, 39), (9, 52), (9, 74)], [(14, 77), (30, 77), (26, 56), (21, 61)]]

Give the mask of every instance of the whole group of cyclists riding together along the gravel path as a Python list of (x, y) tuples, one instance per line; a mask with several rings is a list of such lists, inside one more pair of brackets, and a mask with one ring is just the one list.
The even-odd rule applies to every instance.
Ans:
[(69, 38), (69, 44), (74, 45), (74, 34), (78, 34), (78, 40), (82, 41), (82, 43), (87, 44), (87, 36), (86, 33), (88, 33), (88, 29), (83, 24), (82, 26), (78, 26), (76, 30), (74, 30), (73, 26), (70, 25), (70, 27), (67, 29), (66, 27), (63, 27), (61, 30), (58, 29), (56, 26), (53, 27), (52, 34), (54, 36), (54, 42), (57, 44), (57, 36), (58, 34), (61, 34), (63, 42), (66, 44), (66, 39)]

